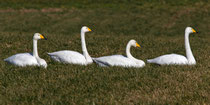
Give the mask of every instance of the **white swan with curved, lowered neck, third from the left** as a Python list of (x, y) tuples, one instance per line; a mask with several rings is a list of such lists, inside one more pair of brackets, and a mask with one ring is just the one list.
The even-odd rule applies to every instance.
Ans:
[(140, 47), (135, 40), (130, 40), (126, 46), (126, 55), (111, 55), (99, 58), (93, 58), (93, 60), (100, 66), (122, 66), (122, 67), (143, 67), (144, 61), (134, 58), (130, 53), (130, 47)]

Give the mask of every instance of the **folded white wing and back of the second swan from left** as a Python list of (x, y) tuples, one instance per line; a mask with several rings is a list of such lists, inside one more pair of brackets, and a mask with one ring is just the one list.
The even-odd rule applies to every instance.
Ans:
[(85, 57), (75, 51), (63, 50), (57, 51), (53, 53), (48, 53), (48, 55), (55, 61), (61, 63), (69, 63), (69, 64), (86, 64)]

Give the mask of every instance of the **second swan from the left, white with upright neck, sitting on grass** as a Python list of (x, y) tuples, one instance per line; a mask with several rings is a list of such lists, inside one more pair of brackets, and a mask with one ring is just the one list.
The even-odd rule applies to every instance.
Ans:
[(83, 26), (81, 28), (81, 42), (82, 42), (83, 55), (76, 51), (70, 51), (70, 50), (48, 53), (48, 55), (53, 60), (62, 63), (80, 64), (80, 65), (87, 65), (92, 63), (93, 60), (87, 52), (86, 43), (85, 43), (85, 32), (89, 31), (91, 31), (91, 29), (86, 26)]

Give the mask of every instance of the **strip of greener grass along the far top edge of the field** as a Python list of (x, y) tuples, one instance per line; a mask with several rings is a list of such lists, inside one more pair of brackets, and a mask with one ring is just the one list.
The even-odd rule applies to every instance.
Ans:
[(135, 6), (145, 6), (146, 5), (168, 5), (168, 6), (187, 6), (194, 5), (196, 3), (207, 4), (207, 0), (0, 0), (0, 8), (80, 8), (80, 9), (90, 9), (90, 8), (125, 8), (125, 7), (135, 7)]

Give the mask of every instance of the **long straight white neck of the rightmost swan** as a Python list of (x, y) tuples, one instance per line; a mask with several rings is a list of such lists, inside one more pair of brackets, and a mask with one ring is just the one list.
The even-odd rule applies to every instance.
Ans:
[(196, 64), (195, 58), (190, 48), (189, 32), (185, 32), (185, 49), (186, 49), (186, 56), (187, 56), (188, 64), (190, 65)]

